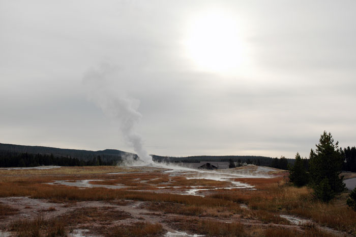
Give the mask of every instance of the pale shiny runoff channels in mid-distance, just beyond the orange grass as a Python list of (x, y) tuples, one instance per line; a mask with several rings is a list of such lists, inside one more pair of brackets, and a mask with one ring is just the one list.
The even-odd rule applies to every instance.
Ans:
[[(259, 167), (255, 170), (243, 170), (243, 169), (235, 169), (235, 170), (219, 170), (219, 171), (210, 171), (210, 170), (193, 170), (190, 168), (184, 167), (172, 167), (173, 169), (168, 169), (163, 173), (172, 177), (167, 180), (166, 183), (150, 183), (150, 181), (157, 180), (158, 178), (151, 178), (149, 180), (141, 180), (140, 175), (137, 173), (137, 178), (132, 179), (132, 181), (137, 181), (137, 183), (142, 183), (147, 185), (149, 183), (150, 190), (158, 190), (157, 192), (162, 193), (174, 193), (174, 194), (182, 194), (182, 195), (195, 195), (204, 197), (207, 194), (210, 194), (211, 191), (215, 190), (232, 190), (232, 189), (254, 189), (254, 186), (251, 186), (247, 183), (234, 181), (236, 178), (270, 178), (271, 175), (268, 172), (273, 171), (269, 168)], [(249, 167), (250, 168), (250, 167)], [(121, 177), (121, 175), (125, 175), (127, 173), (108, 173), (106, 174), (106, 179), (82, 179), (82, 180), (55, 180), (53, 182), (48, 182), (49, 185), (65, 185), (70, 187), (78, 187), (78, 188), (107, 188), (107, 189), (132, 189), (133, 186), (127, 186), (123, 183), (113, 183), (110, 185), (99, 184), (98, 181), (107, 181), (113, 180), (111, 177)], [(144, 173), (140, 173), (144, 174)], [(191, 186), (191, 185), (181, 185), (181, 186), (173, 186), (174, 177), (183, 176), (186, 180), (214, 180), (218, 183), (225, 182), (221, 187), (209, 187), (209, 185), (204, 186)], [(118, 180), (120, 182), (120, 180)], [(208, 187), (207, 187), (208, 186)], [(139, 189), (135, 189), (139, 190)], [(147, 188), (146, 188), (147, 190)]]

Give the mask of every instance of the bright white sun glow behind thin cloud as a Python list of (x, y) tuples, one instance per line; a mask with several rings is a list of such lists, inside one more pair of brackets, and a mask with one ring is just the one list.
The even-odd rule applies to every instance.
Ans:
[(188, 57), (199, 70), (229, 73), (244, 60), (237, 20), (222, 11), (198, 14), (189, 22), (185, 40)]

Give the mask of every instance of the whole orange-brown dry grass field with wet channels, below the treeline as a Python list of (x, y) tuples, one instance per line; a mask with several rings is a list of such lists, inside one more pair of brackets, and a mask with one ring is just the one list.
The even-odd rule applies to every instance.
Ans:
[(347, 193), (325, 204), (286, 183), (284, 171), (249, 174), (0, 170), (0, 236), (356, 236)]

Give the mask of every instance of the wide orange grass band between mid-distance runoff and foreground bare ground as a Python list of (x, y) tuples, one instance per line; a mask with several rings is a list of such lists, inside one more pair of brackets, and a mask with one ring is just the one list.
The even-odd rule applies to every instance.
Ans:
[[(158, 178), (158, 179), (155, 179)], [(319, 203), (313, 199), (312, 190), (281, 186), (281, 177), (272, 179), (236, 179), (247, 182), (259, 190), (219, 190), (208, 197), (189, 195), (162, 194), (152, 192), (135, 192), (128, 190), (111, 190), (104, 188), (79, 189), (66, 186), (44, 184), (53, 180), (106, 179), (103, 182), (123, 183), (130, 189), (156, 189), (155, 185), (169, 181), (169, 186), (224, 186), (229, 182), (206, 179), (186, 179), (185, 177), (168, 177), (167, 174), (126, 173), (115, 175), (41, 175), (41, 176), (0, 176), (0, 197), (29, 196), (45, 198), (52, 201), (86, 201), (86, 200), (140, 200), (151, 202), (180, 203), (180, 208), (165, 207), (168, 213), (183, 215), (203, 215), (210, 217), (228, 217), (241, 214), (244, 218), (258, 219), (265, 223), (285, 223), (278, 213), (284, 212), (311, 218), (317, 223), (340, 230), (356, 231), (356, 215), (345, 205), (346, 198), (341, 202), (329, 204)], [(114, 179), (114, 180), (107, 180)], [(170, 179), (170, 180), (169, 180)], [(148, 180), (148, 181), (147, 181)], [(152, 181), (151, 183), (150, 180)], [(145, 181), (145, 182), (142, 182)], [(206, 187), (206, 186), (205, 186)], [(251, 210), (241, 209), (238, 203), (246, 203)], [(1, 206), (0, 206), (1, 208)], [(228, 209), (228, 211), (226, 211)], [(0, 210), (1, 212), (1, 210)]]

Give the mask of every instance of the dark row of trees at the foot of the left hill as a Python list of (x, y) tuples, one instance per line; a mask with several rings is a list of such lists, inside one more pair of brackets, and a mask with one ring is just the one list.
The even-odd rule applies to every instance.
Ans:
[(107, 166), (113, 161), (102, 161), (100, 155), (92, 160), (79, 160), (71, 156), (55, 157), (53, 154), (29, 154), (0, 152), (0, 167), (36, 167), (36, 166)]

